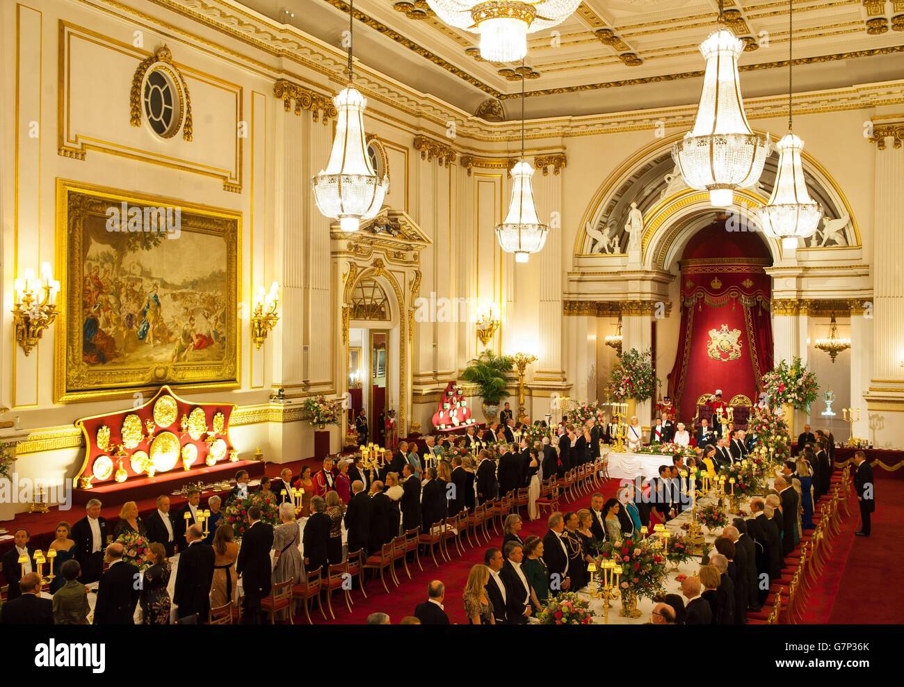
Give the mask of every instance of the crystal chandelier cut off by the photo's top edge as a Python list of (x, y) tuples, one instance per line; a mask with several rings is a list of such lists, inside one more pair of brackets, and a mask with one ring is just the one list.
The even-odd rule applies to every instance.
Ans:
[(527, 34), (550, 29), (578, 9), (580, 0), (427, 0), (446, 24), (480, 34), (480, 56), (513, 62), (527, 54)]

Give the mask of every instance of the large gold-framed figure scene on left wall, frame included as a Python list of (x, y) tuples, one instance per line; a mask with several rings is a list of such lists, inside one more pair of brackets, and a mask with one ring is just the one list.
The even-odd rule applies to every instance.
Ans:
[(237, 386), (240, 215), (62, 180), (57, 202), (56, 400)]

